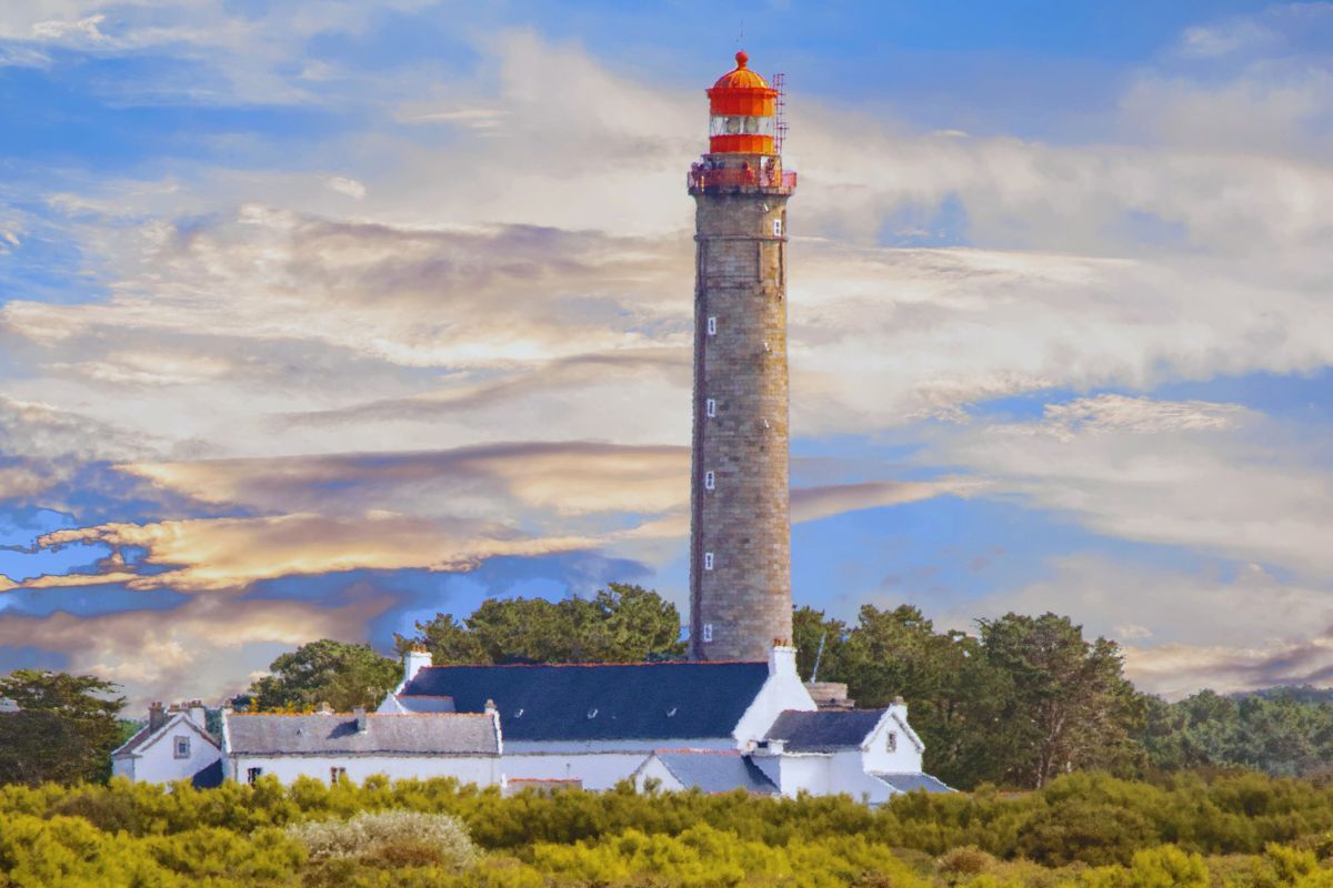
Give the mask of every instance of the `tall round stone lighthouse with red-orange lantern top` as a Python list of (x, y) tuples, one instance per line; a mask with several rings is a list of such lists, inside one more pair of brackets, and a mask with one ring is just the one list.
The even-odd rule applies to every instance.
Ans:
[[(792, 638), (786, 200), (781, 93), (746, 68), (708, 91), (694, 222), (690, 648), (764, 660)], [(776, 80), (776, 79), (774, 79)], [(774, 84), (780, 87), (781, 84)]]

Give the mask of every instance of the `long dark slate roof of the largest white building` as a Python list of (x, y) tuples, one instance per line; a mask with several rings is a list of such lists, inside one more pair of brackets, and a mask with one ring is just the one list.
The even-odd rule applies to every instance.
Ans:
[(399, 696), (452, 696), (459, 712), (500, 708), (505, 740), (729, 738), (768, 663), (433, 666)]

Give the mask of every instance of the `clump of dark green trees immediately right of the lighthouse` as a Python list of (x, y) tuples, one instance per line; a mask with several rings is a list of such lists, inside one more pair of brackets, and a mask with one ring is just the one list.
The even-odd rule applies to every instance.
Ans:
[(845, 682), (857, 706), (902, 696), (942, 780), (1040, 787), (1073, 768), (1134, 772), (1149, 706), (1121, 674), (1114, 642), (1088, 642), (1054, 614), (1006, 614), (978, 632), (936, 631), (912, 606), (866, 604), (848, 627), (820, 611), (794, 614), (808, 675), (821, 638), (820, 678)]

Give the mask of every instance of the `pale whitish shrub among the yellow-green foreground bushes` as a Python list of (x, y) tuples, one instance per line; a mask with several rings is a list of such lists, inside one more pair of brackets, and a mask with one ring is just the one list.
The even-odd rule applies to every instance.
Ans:
[(373, 859), (389, 867), (471, 868), (476, 845), (464, 825), (447, 813), (367, 811), (348, 820), (312, 820), (292, 824), (289, 836), (305, 845), (315, 860)]

